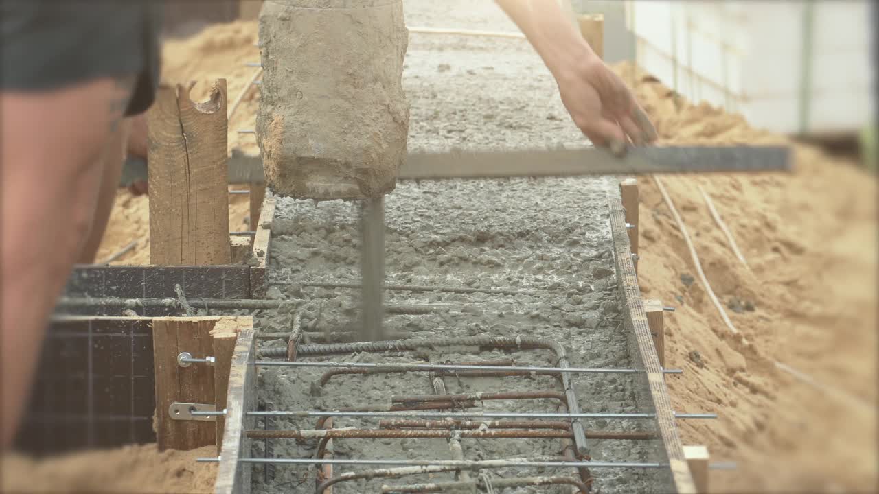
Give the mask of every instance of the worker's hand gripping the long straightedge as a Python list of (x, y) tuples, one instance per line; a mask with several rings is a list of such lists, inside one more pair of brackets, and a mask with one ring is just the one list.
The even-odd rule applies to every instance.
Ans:
[(656, 141), (657, 131), (632, 91), (597, 56), (557, 72), (556, 82), (570, 117), (593, 144), (622, 156), (629, 142)]

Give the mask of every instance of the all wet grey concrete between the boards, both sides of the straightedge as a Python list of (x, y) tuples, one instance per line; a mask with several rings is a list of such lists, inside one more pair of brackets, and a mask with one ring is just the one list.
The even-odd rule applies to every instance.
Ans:
[[(515, 27), (490, 2), (457, 2), (460, 8), (433, 2), (406, 3), (408, 25), (512, 31)], [(449, 18), (460, 15), (461, 18)], [(410, 149), (515, 149), (588, 145), (558, 98), (555, 82), (526, 41), (462, 38), (413, 33), (403, 87), (411, 105)], [(264, 90), (265, 94), (265, 90)], [(265, 97), (264, 97), (265, 98)], [(403, 182), (386, 197), (386, 283), (505, 287), (518, 294), (449, 294), (388, 291), (389, 305), (437, 304), (449, 310), (427, 315), (386, 316), (389, 338), (461, 338), (528, 336), (563, 343), (576, 367), (629, 367), (622, 334), (607, 195), (614, 178), (550, 178), (490, 181)], [(359, 206), (343, 201), (280, 198), (272, 224), (271, 298), (296, 301), (303, 330), (352, 331), (360, 323), (356, 289), (301, 287), (309, 281), (360, 281)], [(260, 317), (264, 331), (289, 331), (293, 305)], [(318, 338), (333, 341), (336, 336)], [(341, 337), (344, 338), (344, 337)], [(266, 346), (286, 345), (282, 340)], [(322, 360), (401, 362), (413, 359), (513, 359), (522, 365), (555, 365), (550, 352), (484, 351), (451, 347), (420, 355), (351, 354)], [(272, 367), (260, 376), (259, 400), (266, 410), (303, 410), (390, 404), (393, 395), (432, 394), (427, 374), (342, 375), (323, 386), (325, 369)], [(491, 391), (563, 391), (548, 377), (446, 378), (448, 393)], [(584, 374), (574, 381), (584, 411), (634, 412), (633, 381), (626, 375)], [(556, 411), (551, 399), (478, 403), (484, 410)], [(649, 410), (647, 410), (649, 411)], [(334, 427), (375, 427), (374, 420), (335, 419)], [(310, 428), (314, 420), (274, 419), (270, 428)], [(588, 420), (587, 430), (634, 431), (649, 421)], [(556, 455), (559, 440), (462, 440), (464, 458), (495, 459)], [(272, 456), (306, 457), (314, 443), (271, 440)], [(595, 461), (646, 461), (653, 442), (590, 440)], [(258, 441), (253, 454), (265, 454)], [(337, 457), (450, 459), (447, 440), (336, 440)], [(338, 467), (336, 474), (352, 470)], [(276, 466), (254, 472), (258, 492), (309, 492), (315, 469)], [(498, 469), (489, 476), (576, 476), (557, 471)], [(632, 492), (647, 489), (650, 471), (595, 470), (593, 489)], [(474, 478), (476, 474), (474, 474)], [(432, 480), (453, 480), (438, 474)], [(267, 480), (267, 482), (266, 482)], [(417, 483), (426, 476), (387, 479)], [(339, 483), (339, 493), (365, 492), (380, 481)], [(556, 492), (532, 487), (518, 492)]]

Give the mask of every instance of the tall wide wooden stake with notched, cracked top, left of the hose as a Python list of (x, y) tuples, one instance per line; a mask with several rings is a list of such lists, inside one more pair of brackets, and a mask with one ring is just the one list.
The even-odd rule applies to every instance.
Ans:
[(193, 84), (163, 85), (149, 110), (149, 261), (228, 265), (226, 80), (195, 104)]

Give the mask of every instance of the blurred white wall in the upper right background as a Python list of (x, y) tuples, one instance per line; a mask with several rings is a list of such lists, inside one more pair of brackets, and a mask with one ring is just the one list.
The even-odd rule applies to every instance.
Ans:
[[(789, 134), (851, 132), (873, 113), (868, 0), (628, 0), (636, 63), (687, 98)], [(806, 17), (812, 18), (807, 56)]]

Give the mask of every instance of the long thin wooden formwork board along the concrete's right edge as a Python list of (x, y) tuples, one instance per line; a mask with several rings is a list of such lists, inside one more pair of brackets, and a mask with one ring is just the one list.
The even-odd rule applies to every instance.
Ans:
[[(626, 229), (625, 208), (619, 194), (609, 197), (611, 234), (614, 239), (614, 264), (623, 302), (624, 324), (629, 338), (629, 355), (633, 367), (643, 368), (643, 396), (638, 399), (647, 402), (656, 412), (656, 426), (662, 440), (663, 455), (671, 469), (671, 488), (679, 494), (695, 492), (693, 476), (687, 467), (684, 449), (678, 436), (672, 402), (665, 375), (659, 365), (656, 347), (650, 335), (647, 314), (644, 310), (641, 289), (632, 262), (632, 251)], [(640, 360), (640, 361), (639, 361)], [(636, 393), (638, 389), (636, 389)], [(640, 404), (640, 403), (639, 403)]]

